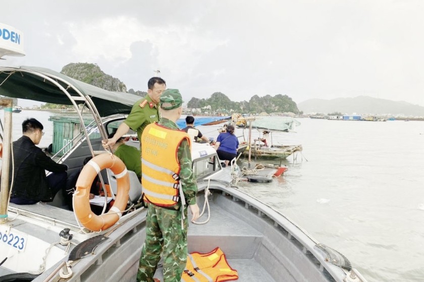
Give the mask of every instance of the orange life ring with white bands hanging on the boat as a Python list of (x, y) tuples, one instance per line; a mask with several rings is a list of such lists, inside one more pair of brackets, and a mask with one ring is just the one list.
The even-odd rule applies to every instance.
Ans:
[[(90, 188), (97, 174), (104, 168), (110, 168), (117, 179), (118, 191), (114, 205), (107, 213), (96, 215), (90, 208)], [(74, 193), (74, 212), (85, 228), (101, 231), (110, 228), (122, 216), (128, 202), (130, 178), (124, 162), (117, 156), (104, 153), (93, 157), (82, 169)]]

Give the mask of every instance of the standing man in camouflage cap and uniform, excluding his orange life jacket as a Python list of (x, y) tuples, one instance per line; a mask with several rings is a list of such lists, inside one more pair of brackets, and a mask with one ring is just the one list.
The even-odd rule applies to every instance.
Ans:
[[(181, 116), (182, 103), (181, 94), (177, 89), (165, 90), (160, 98), (161, 119), (158, 125), (167, 129), (178, 130), (176, 121)], [(144, 150), (146, 150), (142, 153), (143, 162), (145, 162), (144, 156), (148, 154), (149, 150), (146, 136), (148, 136), (150, 128), (154, 126), (150, 125), (142, 135), (142, 147), (144, 146)], [(172, 157), (170, 156), (170, 158)], [(196, 203), (197, 184), (191, 168), (191, 152), (188, 140), (183, 139), (179, 144), (177, 158), (181, 167), (179, 177), (182, 191), (193, 215), (191, 221), (195, 221), (199, 217), (199, 207)], [(159, 166), (158, 163), (153, 164)], [(147, 181), (145, 182), (147, 183)], [(146, 189), (150, 189), (150, 187), (146, 187)], [(181, 189), (180, 200), (173, 206), (161, 207), (149, 202), (148, 196), (146, 196), (146, 199), (148, 208), (146, 239), (141, 251), (137, 281), (154, 281), (153, 274), (162, 252), (164, 257), (164, 282), (180, 282), (187, 262), (188, 229), (187, 206), (182, 206)], [(184, 216), (182, 216), (183, 213)]]

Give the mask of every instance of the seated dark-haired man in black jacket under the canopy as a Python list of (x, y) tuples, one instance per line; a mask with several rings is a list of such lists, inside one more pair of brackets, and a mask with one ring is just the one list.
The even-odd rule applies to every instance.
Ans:
[[(35, 146), (44, 135), (43, 125), (39, 121), (25, 120), (22, 134), (13, 142), (14, 170), (10, 201), (18, 205), (51, 202), (59, 190), (65, 189), (68, 166), (56, 163)], [(46, 176), (45, 171), (52, 174)]]

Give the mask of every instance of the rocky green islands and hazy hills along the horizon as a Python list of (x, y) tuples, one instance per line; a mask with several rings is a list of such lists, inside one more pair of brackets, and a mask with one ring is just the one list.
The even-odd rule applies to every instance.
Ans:
[[(118, 78), (105, 74), (96, 64), (71, 63), (62, 68), (62, 74), (83, 81), (96, 87), (118, 92), (128, 92), (140, 97), (147, 95), (145, 91), (129, 89)], [(250, 93), (246, 93), (246, 97)], [(46, 109), (68, 109), (71, 106), (45, 104)], [(284, 94), (253, 95), (248, 101), (235, 102), (222, 92), (215, 92), (209, 98), (192, 97), (185, 107), (186, 114), (193, 115), (231, 115), (260, 114), (310, 116), (330, 115), (339, 112), (342, 115), (380, 115), (395, 117), (424, 117), (424, 107), (404, 101), (391, 101), (368, 96), (354, 98), (336, 98), (331, 100), (309, 99), (296, 104), (292, 97)]]

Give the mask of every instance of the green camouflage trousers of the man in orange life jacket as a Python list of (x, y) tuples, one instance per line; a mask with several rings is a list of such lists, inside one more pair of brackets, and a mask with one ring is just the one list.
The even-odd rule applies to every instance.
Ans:
[(164, 258), (164, 282), (180, 282), (187, 263), (187, 208), (184, 230), (181, 210), (170, 210), (147, 204), (146, 239), (141, 251), (137, 282), (153, 282), (153, 274)]

